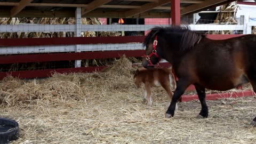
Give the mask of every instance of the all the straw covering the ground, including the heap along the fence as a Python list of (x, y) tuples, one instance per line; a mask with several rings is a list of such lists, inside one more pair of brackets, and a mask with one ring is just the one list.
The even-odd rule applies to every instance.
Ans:
[(206, 119), (195, 118), (198, 101), (179, 102), (166, 119), (162, 88), (148, 107), (127, 69), (106, 71), (0, 82), (0, 117), (15, 119), (21, 130), (12, 143), (256, 143), (249, 125), (256, 97), (207, 101)]

